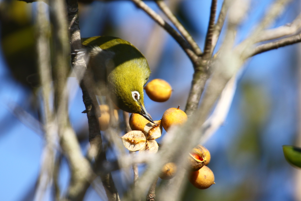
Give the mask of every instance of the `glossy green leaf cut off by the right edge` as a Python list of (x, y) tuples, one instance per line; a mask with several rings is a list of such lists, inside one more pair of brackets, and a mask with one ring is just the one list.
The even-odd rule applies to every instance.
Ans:
[(299, 168), (301, 168), (301, 148), (292, 145), (283, 145), (283, 153), (286, 160)]

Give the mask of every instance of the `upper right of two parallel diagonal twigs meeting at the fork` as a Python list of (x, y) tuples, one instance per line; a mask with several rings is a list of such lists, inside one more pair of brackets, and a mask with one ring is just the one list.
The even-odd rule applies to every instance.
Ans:
[(188, 31), (185, 29), (185, 27), (181, 24), (181, 22), (178, 21), (178, 19), (172, 13), (172, 11), (169, 9), (169, 7), (165, 4), (165, 2), (163, 0), (156, 0), (156, 3), (159, 6), (159, 8), (161, 9), (161, 11), (172, 22), (172, 24), (175, 25), (175, 27), (179, 30), (179, 32), (182, 34), (182, 36), (185, 38), (185, 40), (190, 44), (194, 53), (196, 55), (200, 56), (202, 54), (202, 50), (197, 45), (197, 43), (194, 41), (194, 39), (191, 37), (191, 35), (188, 33)]

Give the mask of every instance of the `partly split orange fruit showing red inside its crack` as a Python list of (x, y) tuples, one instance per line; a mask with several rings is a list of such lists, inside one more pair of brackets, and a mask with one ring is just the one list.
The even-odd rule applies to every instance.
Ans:
[(187, 162), (188, 162), (188, 171), (197, 171), (202, 168), (206, 162), (206, 153), (203, 148), (197, 145), (189, 153)]

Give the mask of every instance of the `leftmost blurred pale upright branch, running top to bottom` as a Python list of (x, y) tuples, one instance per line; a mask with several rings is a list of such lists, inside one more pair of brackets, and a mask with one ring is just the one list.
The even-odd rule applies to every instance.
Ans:
[(37, 5), (36, 33), (37, 33), (37, 56), (40, 83), (42, 85), (43, 109), (45, 120), (46, 145), (42, 154), (41, 171), (39, 182), (35, 192), (35, 200), (44, 200), (45, 192), (51, 188), (54, 174), (54, 159), (57, 141), (57, 126), (54, 124), (53, 111), (50, 109), (51, 95), (51, 65), (50, 65), (50, 24), (45, 15), (45, 5), (41, 2)]

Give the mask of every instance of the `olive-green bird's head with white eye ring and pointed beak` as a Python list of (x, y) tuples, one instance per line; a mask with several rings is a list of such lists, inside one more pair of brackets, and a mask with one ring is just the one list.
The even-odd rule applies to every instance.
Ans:
[[(143, 86), (150, 76), (145, 59), (134, 59), (117, 66), (108, 76), (108, 85), (117, 106), (129, 113), (137, 113), (154, 123), (144, 107)], [(146, 62), (146, 63), (145, 63)]]

